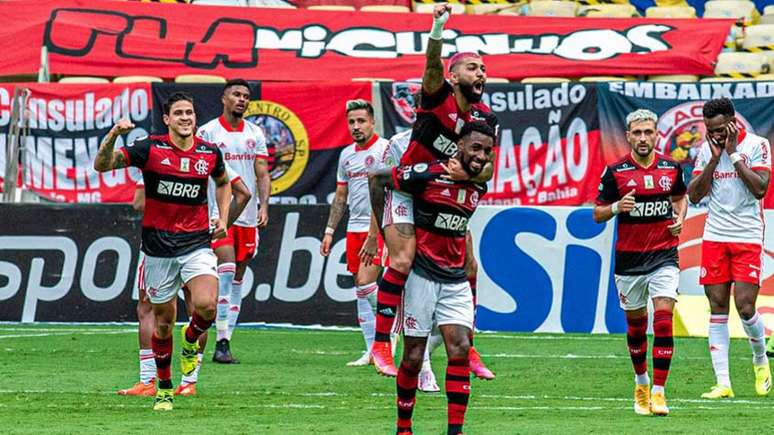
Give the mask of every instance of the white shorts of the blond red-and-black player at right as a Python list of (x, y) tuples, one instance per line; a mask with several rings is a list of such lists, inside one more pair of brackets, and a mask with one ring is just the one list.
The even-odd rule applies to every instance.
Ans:
[(648, 297), (677, 300), (680, 285), (680, 269), (663, 266), (647, 275), (616, 275), (615, 286), (621, 308), (626, 311), (648, 306)]

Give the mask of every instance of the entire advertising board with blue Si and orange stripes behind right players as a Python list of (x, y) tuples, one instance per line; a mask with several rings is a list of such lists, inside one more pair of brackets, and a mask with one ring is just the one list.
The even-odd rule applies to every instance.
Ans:
[[(478, 267), (476, 326), (517, 332), (624, 333), (613, 275), (613, 221), (587, 207), (479, 207), (470, 222)], [(764, 212), (774, 225), (774, 210)], [(709, 304), (699, 285), (706, 210), (692, 208), (678, 247), (675, 335), (707, 336)], [(518, 271), (518, 273), (514, 273)], [(774, 234), (766, 232), (758, 312), (774, 331)], [(744, 338), (731, 309), (732, 337)]]

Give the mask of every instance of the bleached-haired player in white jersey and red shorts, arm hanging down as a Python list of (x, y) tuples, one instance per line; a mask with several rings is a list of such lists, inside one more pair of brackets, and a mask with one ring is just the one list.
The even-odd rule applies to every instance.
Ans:
[[(364, 366), (371, 361), (369, 349), (374, 340), (374, 313), (376, 299), (376, 278), (379, 276), (379, 259), (371, 258), (360, 262), (360, 253), (369, 234), (371, 204), (368, 197), (368, 172), (376, 169), (382, 159), (388, 142), (374, 134), (374, 108), (365, 100), (347, 102), (347, 125), (355, 141), (341, 151), (336, 176), (336, 194), (331, 204), (328, 225), (325, 228), (320, 254), (331, 252), (333, 233), (349, 204), (347, 222), (347, 270), (355, 277), (357, 286), (357, 318), (363, 331), (366, 351), (348, 366)], [(378, 242), (381, 244), (381, 241)], [(380, 249), (379, 249), (380, 250)], [(361, 267), (363, 266), (363, 267)]]

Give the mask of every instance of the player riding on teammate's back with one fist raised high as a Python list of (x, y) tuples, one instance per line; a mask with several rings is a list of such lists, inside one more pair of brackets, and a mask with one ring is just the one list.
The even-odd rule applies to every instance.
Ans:
[[(486, 84), (486, 67), (475, 53), (458, 53), (449, 62), (449, 81), (444, 79), (441, 60), (443, 26), (449, 19), (451, 8), (438, 4), (433, 10), (433, 28), (426, 52), (426, 65), (422, 77), (422, 95), (417, 109), (417, 119), (412, 128), (411, 143), (401, 159), (402, 165), (446, 160), (457, 150), (459, 132), (465, 122), (485, 120), (497, 132), (497, 118), (489, 107), (481, 103)], [(451, 175), (466, 179), (469, 175), (454, 159), (448, 164)], [(492, 176), (492, 166), (476, 175), (475, 181), (486, 182)], [(400, 302), (401, 292), (414, 262), (416, 239), (413, 227), (413, 205), (410, 195), (392, 192), (387, 198), (391, 214), (384, 228), (384, 239), (390, 257), (390, 266), (379, 283), (377, 293), (376, 338), (371, 353), (379, 373), (395, 376), (397, 370), (390, 349), (389, 332)], [(472, 241), (469, 241), (472, 243)], [(466, 261), (468, 279), (475, 294), (476, 263), (472, 249)], [(472, 337), (471, 337), (472, 340)], [(483, 379), (493, 379), (494, 374), (481, 361), (471, 347), (471, 364), (474, 374)]]

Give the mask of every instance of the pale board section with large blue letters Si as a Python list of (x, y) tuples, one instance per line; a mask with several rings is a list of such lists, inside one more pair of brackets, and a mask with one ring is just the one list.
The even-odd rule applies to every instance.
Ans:
[(613, 278), (614, 224), (590, 208), (480, 207), (477, 327), (521, 332), (626, 331)]

